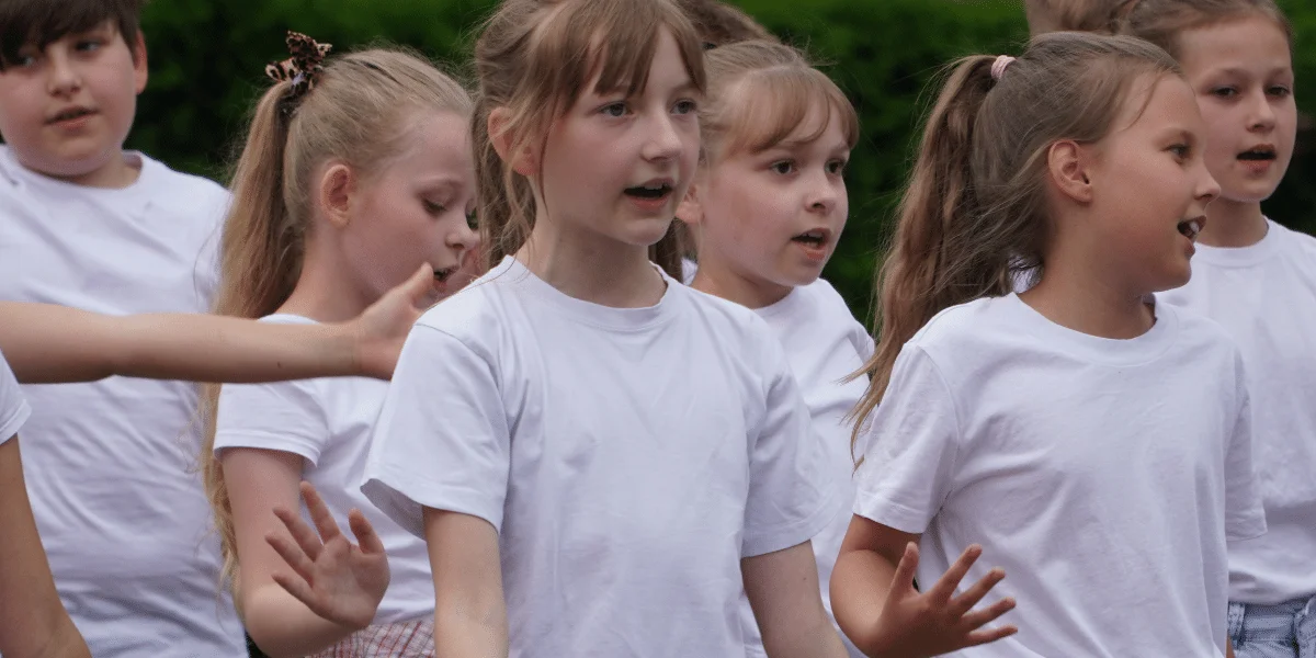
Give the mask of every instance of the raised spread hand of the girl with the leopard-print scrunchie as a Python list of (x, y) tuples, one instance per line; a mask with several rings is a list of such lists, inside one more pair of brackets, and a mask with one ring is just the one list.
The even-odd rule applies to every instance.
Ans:
[(288, 528), (295, 542), (275, 533), (266, 536), (265, 541), (270, 542), (296, 575), (276, 572), (274, 582), (311, 608), (311, 612), (354, 630), (363, 629), (375, 619), (379, 601), (388, 590), (384, 545), (359, 509), (347, 515), (351, 533), (361, 545), (358, 547), (338, 530), (338, 524), (311, 483), (301, 483), (301, 497), (307, 501), (320, 537), (316, 537), (301, 516), (275, 508), (275, 516)]

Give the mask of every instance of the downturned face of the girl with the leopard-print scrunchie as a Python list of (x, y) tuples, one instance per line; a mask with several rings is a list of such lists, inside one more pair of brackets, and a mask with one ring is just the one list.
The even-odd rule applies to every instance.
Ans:
[(462, 270), (479, 238), (475, 162), (465, 117), (440, 113), (418, 120), (411, 147), (362, 180), (341, 249), (370, 299), (407, 280), (422, 263), (434, 268), (440, 297), (468, 283)]

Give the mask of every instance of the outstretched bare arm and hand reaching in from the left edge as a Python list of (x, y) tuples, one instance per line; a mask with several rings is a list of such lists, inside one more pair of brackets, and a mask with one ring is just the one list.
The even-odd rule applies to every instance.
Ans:
[(108, 316), (53, 304), (0, 301), (0, 351), (24, 383), (112, 375), (195, 382), (392, 376), (428, 267), (350, 322), (275, 325), (199, 313)]

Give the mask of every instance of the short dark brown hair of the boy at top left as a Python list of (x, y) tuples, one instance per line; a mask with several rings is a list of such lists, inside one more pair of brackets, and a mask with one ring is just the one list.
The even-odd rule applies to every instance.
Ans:
[[(0, 71), (28, 46), (46, 46), (113, 21), (132, 50), (141, 32), (145, 0), (4, 0), (0, 3)], [(133, 51), (133, 58), (137, 53)]]

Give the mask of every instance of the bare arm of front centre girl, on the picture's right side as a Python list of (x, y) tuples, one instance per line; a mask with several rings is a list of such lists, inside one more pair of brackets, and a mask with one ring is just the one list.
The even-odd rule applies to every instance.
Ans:
[(771, 658), (845, 658), (819, 590), (813, 547), (804, 542), (741, 561), (745, 595)]

